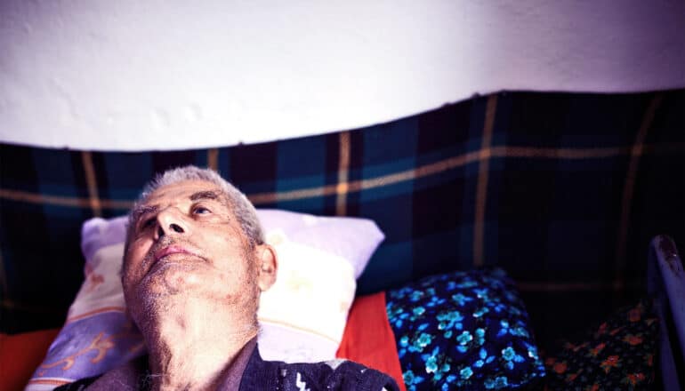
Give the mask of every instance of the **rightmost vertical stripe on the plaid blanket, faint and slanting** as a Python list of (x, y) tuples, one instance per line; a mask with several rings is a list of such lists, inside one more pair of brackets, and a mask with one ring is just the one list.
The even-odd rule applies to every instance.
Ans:
[(649, 102), (649, 107), (647, 108), (647, 111), (645, 111), (645, 115), (642, 117), (640, 129), (635, 136), (635, 142), (630, 152), (631, 159), (630, 164), (628, 164), (628, 171), (625, 173), (623, 199), (621, 201), (621, 222), (618, 225), (618, 238), (616, 247), (617, 255), (615, 265), (615, 276), (618, 281), (623, 281), (624, 279), (625, 241), (628, 235), (628, 222), (630, 219), (630, 211), (633, 203), (633, 192), (635, 189), (635, 178), (637, 177), (638, 164), (640, 164), (640, 156), (643, 154), (643, 147), (645, 139), (647, 138), (647, 132), (651, 127), (652, 121), (654, 120), (654, 114), (657, 112), (657, 108), (661, 104), (662, 99), (663, 95), (658, 93)]

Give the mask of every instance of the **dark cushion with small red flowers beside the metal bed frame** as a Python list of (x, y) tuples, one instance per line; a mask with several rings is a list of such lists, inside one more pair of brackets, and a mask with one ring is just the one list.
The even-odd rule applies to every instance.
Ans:
[(549, 389), (641, 390), (654, 386), (658, 319), (649, 300), (627, 307), (576, 344), (566, 342), (544, 361)]

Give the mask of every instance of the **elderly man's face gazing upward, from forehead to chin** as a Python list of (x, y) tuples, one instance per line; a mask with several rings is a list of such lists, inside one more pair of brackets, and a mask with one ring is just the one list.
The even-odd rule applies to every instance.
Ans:
[(259, 246), (250, 247), (213, 183), (186, 180), (158, 188), (133, 217), (122, 283), (134, 319), (169, 299), (256, 311)]

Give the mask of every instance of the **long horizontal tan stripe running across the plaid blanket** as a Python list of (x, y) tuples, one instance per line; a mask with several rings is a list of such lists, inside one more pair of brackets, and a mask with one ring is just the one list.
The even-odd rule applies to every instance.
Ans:
[[(414, 180), (426, 176), (445, 172), (464, 164), (478, 162), (483, 158), (505, 157), (505, 158), (553, 158), (564, 160), (592, 159), (627, 155), (633, 151), (631, 147), (616, 148), (533, 148), (533, 147), (492, 147), (467, 152), (460, 156), (448, 157), (436, 163), (425, 164), (411, 170), (395, 172), (388, 175), (368, 179), (354, 180), (347, 183), (347, 192), (356, 192), (370, 188), (381, 188), (406, 180)], [(645, 154), (672, 154), (685, 151), (685, 143), (655, 143), (643, 145), (640, 151)], [(278, 193), (256, 193), (247, 195), (255, 205), (264, 203), (275, 203), (278, 201), (293, 201), (303, 198), (318, 197), (324, 195), (334, 195), (338, 192), (337, 185), (326, 185), (319, 188), (302, 188), (298, 190), (284, 191)], [(59, 195), (40, 195), (19, 190), (9, 190), (0, 188), (0, 198), (26, 203), (46, 203), (60, 206), (84, 207), (90, 206), (90, 200), (79, 197), (63, 197)], [(125, 200), (100, 200), (101, 207), (109, 209), (129, 210), (133, 206), (133, 201)]]

